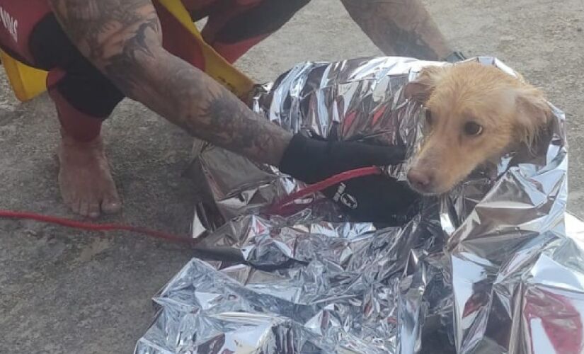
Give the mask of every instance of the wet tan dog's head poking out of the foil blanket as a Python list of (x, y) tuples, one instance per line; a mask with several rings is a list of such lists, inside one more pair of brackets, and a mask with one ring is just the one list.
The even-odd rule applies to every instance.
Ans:
[(408, 170), (419, 193), (445, 193), (477, 166), (531, 145), (551, 117), (538, 89), (496, 67), (427, 67), (405, 87), (425, 106), (425, 139)]

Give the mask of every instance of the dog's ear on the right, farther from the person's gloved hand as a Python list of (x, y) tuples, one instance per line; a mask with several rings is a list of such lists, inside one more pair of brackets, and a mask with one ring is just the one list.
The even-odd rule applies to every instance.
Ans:
[(551, 108), (544, 93), (534, 87), (517, 90), (515, 96), (517, 109), (517, 139), (531, 146), (548, 122), (551, 120)]

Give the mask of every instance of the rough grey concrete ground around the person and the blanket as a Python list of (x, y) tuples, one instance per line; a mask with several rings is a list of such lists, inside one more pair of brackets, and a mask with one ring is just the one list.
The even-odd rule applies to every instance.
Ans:
[[(544, 87), (566, 111), (570, 207), (584, 217), (584, 2), (428, 0), (468, 55), (496, 55)], [(338, 0), (317, 0), (239, 67), (258, 81), (304, 60), (379, 51)], [(46, 96), (18, 104), (0, 77), (0, 208), (70, 216), (56, 181), (55, 111)], [(141, 105), (124, 102), (105, 125), (120, 217), (103, 222), (188, 232), (193, 188), (181, 177), (191, 139)], [(151, 320), (150, 298), (190, 258), (180, 246), (134, 234), (93, 234), (0, 220), (0, 353), (131, 353)]]

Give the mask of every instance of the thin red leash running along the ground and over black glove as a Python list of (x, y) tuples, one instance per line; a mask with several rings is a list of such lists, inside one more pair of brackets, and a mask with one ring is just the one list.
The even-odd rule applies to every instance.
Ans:
[[(327, 178), (324, 181), (314, 183), (312, 185), (308, 185), (306, 188), (302, 190), (298, 190), (295, 193), (287, 195), (285, 198), (280, 200), (279, 202), (275, 203), (269, 207), (268, 212), (270, 214), (280, 214), (282, 210), (285, 209), (286, 205), (294, 202), (294, 200), (298, 200), (300, 198), (304, 198), (307, 195), (311, 195), (316, 192), (320, 192), (321, 190), (325, 190), (328, 187), (336, 185), (338, 183), (348, 181), (353, 178), (363, 177), (363, 176), (372, 176), (381, 174), (382, 170), (379, 167), (365, 167), (363, 169), (355, 169), (351, 171), (346, 171), (343, 173), (339, 173), (338, 175), (332, 176), (331, 178)], [(164, 239), (166, 241), (173, 241), (173, 242), (180, 242), (183, 244), (194, 244), (199, 241), (198, 239), (191, 239), (188, 236), (177, 236), (173, 234), (167, 234), (166, 232), (159, 232), (156, 230), (146, 229), (143, 227), (134, 227), (130, 225), (124, 224), (95, 224), (93, 222), (78, 222), (76, 220), (65, 219), (62, 217), (52, 217), (48, 215), (40, 215), (33, 212), (13, 212), (10, 210), (1, 210), (0, 209), (0, 218), (4, 219), (28, 219), (28, 220), (35, 220), (38, 222), (45, 222), (47, 224), (57, 224), (64, 227), (71, 227), (73, 229), (82, 229), (88, 231), (98, 231), (98, 232), (107, 232), (107, 231), (128, 231), (128, 232), (136, 232), (137, 234), (144, 234), (147, 236), (154, 237), (156, 239)]]

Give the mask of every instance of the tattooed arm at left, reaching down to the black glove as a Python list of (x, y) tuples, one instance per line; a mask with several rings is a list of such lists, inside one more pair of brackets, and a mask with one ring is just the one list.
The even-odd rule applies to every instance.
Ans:
[(79, 50), (129, 98), (195, 137), (277, 166), (292, 135), (161, 45), (150, 0), (50, 0)]

